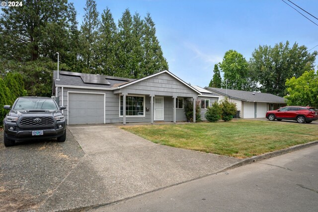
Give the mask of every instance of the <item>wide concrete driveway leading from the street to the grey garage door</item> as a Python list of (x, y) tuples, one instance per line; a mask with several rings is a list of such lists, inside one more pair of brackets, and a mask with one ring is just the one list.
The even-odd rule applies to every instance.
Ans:
[(241, 159), (155, 144), (114, 125), (69, 130), (85, 155), (40, 210), (106, 205), (219, 172)]

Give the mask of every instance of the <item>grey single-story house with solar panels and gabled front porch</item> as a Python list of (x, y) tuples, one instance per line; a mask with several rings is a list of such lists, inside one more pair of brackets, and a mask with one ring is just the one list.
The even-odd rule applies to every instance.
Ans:
[(218, 98), (168, 71), (139, 80), (65, 71), (59, 76), (54, 71), (53, 78), (53, 94), (59, 105), (67, 106), (68, 124), (186, 121), (185, 98), (204, 98), (208, 105)]

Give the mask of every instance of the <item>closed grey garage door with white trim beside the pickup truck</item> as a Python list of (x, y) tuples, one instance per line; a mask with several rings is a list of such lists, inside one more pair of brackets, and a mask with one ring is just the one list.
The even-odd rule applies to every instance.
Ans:
[(104, 94), (69, 93), (69, 124), (104, 123)]

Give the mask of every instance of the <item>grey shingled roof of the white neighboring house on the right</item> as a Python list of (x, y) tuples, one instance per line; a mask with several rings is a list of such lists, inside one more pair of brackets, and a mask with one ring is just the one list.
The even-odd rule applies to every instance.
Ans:
[(216, 92), (223, 96), (227, 96), (233, 99), (242, 100), (245, 102), (258, 102), (258, 103), (286, 103), (285, 99), (282, 97), (278, 97), (273, 94), (267, 93), (257, 93), (250, 91), (239, 91), (239, 90), (231, 90), (231, 89), (220, 89), (220, 88), (210, 88), (205, 87), (204, 89)]

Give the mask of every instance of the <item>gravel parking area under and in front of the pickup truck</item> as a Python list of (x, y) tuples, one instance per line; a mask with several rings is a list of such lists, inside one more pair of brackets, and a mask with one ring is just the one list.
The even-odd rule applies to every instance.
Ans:
[(13, 147), (4, 147), (0, 131), (0, 211), (37, 211), (83, 156), (69, 130), (65, 142), (23, 141)]

